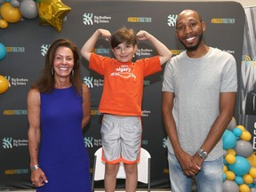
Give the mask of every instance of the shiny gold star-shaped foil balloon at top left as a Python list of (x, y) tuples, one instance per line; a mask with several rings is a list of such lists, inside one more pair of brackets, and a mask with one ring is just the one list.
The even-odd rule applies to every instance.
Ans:
[(62, 21), (71, 8), (60, 0), (36, 0), (40, 25), (51, 25), (61, 31)]

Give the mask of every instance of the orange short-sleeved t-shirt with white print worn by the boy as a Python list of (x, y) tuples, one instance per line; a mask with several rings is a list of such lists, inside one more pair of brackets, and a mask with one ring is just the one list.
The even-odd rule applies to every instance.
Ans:
[(162, 70), (159, 56), (124, 63), (95, 53), (89, 68), (104, 76), (100, 113), (119, 116), (141, 116), (144, 76)]

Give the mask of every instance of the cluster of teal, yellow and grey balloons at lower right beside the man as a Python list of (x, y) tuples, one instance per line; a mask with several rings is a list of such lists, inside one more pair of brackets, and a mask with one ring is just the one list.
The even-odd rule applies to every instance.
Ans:
[(223, 192), (256, 192), (256, 156), (252, 135), (233, 117), (222, 135), (224, 149)]

